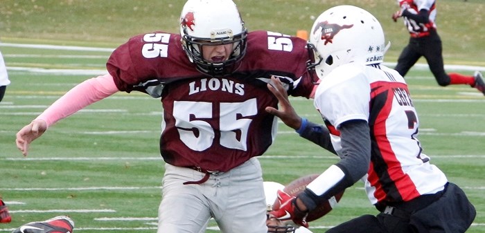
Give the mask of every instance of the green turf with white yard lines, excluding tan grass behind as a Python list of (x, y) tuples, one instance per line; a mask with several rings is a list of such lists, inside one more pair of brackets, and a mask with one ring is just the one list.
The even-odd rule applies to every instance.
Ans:
[[(164, 173), (157, 147), (159, 100), (118, 93), (55, 124), (24, 158), (15, 148), (15, 133), (69, 88), (101, 72), (96, 69), (103, 69), (100, 64), (109, 53), (0, 48), (12, 80), (0, 103), (0, 193), (12, 202), (14, 219), (1, 225), (0, 231), (69, 214), (82, 232), (155, 232)], [(64, 66), (78, 69), (64, 71)], [(451, 181), (464, 187), (477, 207), (475, 224), (468, 232), (485, 232), (484, 97), (467, 86), (441, 88), (429, 71), (417, 68), (407, 80), (421, 117), (425, 153)], [(310, 100), (292, 102), (302, 115), (319, 120)], [(283, 184), (320, 173), (336, 160), (284, 125), (261, 158), (265, 180)], [(323, 229), (312, 230), (324, 232), (325, 227), (353, 216), (375, 213), (361, 187), (358, 183), (349, 188), (338, 209), (311, 224)]]

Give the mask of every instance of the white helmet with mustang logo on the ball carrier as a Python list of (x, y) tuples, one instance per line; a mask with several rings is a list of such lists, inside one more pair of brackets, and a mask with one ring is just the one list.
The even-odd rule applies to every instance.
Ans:
[(312, 26), (309, 41), (317, 50), (312, 66), (320, 79), (342, 64), (381, 63), (387, 49), (376, 17), (348, 5), (321, 13)]

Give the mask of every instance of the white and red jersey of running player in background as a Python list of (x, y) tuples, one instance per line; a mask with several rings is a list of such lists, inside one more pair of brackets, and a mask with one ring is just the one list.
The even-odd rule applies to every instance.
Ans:
[[(403, 17), (404, 24), (409, 30), (411, 35), (420, 35), (420, 33), (427, 33), (430, 30), (436, 29), (436, 1), (434, 0), (398, 0), (398, 3), (401, 7), (403, 4), (407, 3), (407, 10), (412, 14), (418, 15), (420, 10), (427, 10), (429, 11), (429, 19), (430, 22), (427, 24), (419, 24), (418, 22), (414, 21), (414, 19), (409, 19), (409, 17)], [(419, 37), (419, 36), (418, 36)]]

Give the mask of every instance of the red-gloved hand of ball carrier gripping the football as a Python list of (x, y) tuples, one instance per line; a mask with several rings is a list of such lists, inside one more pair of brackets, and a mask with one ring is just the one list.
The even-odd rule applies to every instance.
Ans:
[(270, 212), (270, 217), (278, 218), (281, 221), (292, 220), (298, 225), (308, 227), (306, 216), (308, 212), (303, 212), (297, 207), (297, 198), (278, 190), (279, 209)]

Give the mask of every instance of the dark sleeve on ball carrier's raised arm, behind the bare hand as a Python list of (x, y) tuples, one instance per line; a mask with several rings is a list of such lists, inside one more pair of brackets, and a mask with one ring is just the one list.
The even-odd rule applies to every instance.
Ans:
[(327, 151), (337, 154), (330, 141), (330, 132), (328, 132), (328, 129), (324, 125), (315, 124), (306, 119), (302, 120), (305, 121), (305, 124), (303, 124), (304, 128), (299, 129), (298, 131), (301, 138), (305, 138), (306, 140), (323, 147)]

